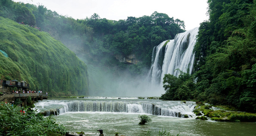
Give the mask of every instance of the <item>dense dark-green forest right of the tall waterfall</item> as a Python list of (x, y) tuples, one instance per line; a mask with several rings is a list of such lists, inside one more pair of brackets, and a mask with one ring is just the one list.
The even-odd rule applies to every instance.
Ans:
[(166, 75), (163, 99), (206, 101), (256, 111), (256, 1), (208, 0), (194, 73)]

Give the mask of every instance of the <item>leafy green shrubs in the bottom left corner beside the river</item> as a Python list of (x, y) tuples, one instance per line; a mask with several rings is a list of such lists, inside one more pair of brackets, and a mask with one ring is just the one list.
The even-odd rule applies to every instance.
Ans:
[(65, 135), (64, 127), (55, 122), (51, 116), (43, 117), (30, 108), (0, 102), (0, 115), (1, 136), (6, 134), (10, 136)]

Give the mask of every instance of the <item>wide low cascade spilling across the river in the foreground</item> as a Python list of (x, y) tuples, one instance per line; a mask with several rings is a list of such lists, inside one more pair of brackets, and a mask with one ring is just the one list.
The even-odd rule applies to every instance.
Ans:
[[(150, 103), (149, 103), (150, 102)], [(163, 104), (161, 101), (130, 101), (130, 100), (43, 100), (36, 103), (37, 111), (56, 110), (59, 114), (67, 112), (111, 112), (111, 113), (141, 113), (158, 116), (184, 117), (185, 114), (194, 116), (194, 102), (184, 104), (173, 101)]]

